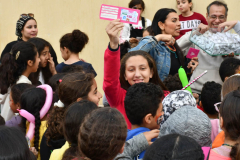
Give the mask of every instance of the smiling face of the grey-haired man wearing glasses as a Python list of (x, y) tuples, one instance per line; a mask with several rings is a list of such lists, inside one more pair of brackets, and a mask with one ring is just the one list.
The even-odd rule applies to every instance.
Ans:
[(220, 23), (227, 21), (226, 9), (224, 6), (212, 5), (207, 13), (207, 22), (210, 28), (218, 28)]

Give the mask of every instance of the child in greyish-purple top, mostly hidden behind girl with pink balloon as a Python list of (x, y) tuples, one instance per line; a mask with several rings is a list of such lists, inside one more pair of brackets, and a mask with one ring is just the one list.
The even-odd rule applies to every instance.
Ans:
[[(13, 113), (19, 113), (18, 109), (21, 109), (21, 105), (20, 105), (21, 95), (26, 89), (32, 88), (32, 87), (34, 87), (34, 86), (31, 84), (28, 84), (28, 83), (19, 83), (19, 84), (15, 84), (11, 87), (9, 103), (10, 103), (10, 108), (13, 111)], [(5, 125), (9, 126), (9, 127), (17, 127), (19, 129), (21, 129), (21, 127), (20, 127), (21, 120), (22, 120), (22, 118), (20, 115), (15, 115), (10, 120), (6, 121)]]

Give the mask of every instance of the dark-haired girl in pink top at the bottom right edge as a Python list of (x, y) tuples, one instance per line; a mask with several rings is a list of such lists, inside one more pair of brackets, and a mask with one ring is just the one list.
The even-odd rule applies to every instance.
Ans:
[(210, 152), (209, 160), (240, 159), (240, 90), (227, 94), (216, 110), (219, 111), (220, 127), (225, 133), (222, 146)]

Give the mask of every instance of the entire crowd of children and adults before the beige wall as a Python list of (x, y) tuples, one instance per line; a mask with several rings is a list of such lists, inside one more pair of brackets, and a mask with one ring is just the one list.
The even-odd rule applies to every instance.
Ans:
[[(221, 0), (206, 6), (206, 18), (192, 0), (176, 5), (180, 15), (161, 8), (151, 21), (141, 16), (150, 6), (131, 0), (139, 23), (108, 23), (104, 94), (92, 64), (79, 58), (87, 33), (61, 37), (58, 63), (51, 44), (37, 37), (34, 14), (21, 14), (18, 39), (1, 54), (0, 159), (239, 160), (238, 51), (211, 56), (189, 38), (192, 29), (233, 28), (240, 35), (240, 22), (227, 21)], [(197, 57), (186, 58), (190, 47)], [(190, 92), (182, 89), (180, 68), (189, 81), (207, 73)]]

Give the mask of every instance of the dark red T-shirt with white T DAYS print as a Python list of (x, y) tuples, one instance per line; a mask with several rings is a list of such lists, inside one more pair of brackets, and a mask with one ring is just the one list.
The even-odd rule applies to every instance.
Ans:
[(179, 21), (181, 23), (180, 35), (175, 37), (175, 39), (181, 38), (186, 32), (191, 31), (192, 29), (196, 29), (200, 23), (208, 25), (205, 17), (200, 13), (193, 12), (193, 15), (189, 17), (183, 17), (181, 14), (179, 15)]

